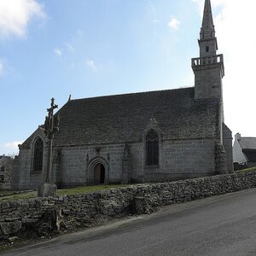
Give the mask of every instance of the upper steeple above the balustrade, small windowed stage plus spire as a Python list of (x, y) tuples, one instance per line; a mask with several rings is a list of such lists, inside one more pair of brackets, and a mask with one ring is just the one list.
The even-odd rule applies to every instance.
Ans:
[(211, 1), (205, 1), (204, 16), (201, 24), (200, 39), (200, 56), (216, 55), (218, 49), (217, 38), (215, 37), (215, 28), (212, 19)]

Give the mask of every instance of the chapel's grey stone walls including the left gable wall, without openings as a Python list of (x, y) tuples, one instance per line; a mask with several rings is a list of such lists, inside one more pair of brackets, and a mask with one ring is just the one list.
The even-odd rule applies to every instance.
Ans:
[[(35, 133), (35, 139), (38, 134)], [(27, 148), (20, 148), (15, 159), (13, 189), (38, 189), (44, 182), (48, 148), (44, 147), (42, 172), (32, 171), (32, 140)], [(44, 145), (46, 143), (44, 142)], [(54, 148), (52, 180), (58, 188), (94, 183), (94, 167), (105, 167), (105, 183), (124, 182), (125, 145), (129, 147), (131, 170), (128, 183), (163, 182), (214, 173), (214, 142), (212, 139), (164, 140), (160, 139), (160, 163), (146, 166), (145, 143), (102, 144), (79, 147)]]

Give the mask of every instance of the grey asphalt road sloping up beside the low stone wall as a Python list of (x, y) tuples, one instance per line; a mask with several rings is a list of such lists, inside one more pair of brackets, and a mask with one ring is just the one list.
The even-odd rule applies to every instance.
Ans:
[(256, 189), (166, 207), (3, 255), (256, 255)]

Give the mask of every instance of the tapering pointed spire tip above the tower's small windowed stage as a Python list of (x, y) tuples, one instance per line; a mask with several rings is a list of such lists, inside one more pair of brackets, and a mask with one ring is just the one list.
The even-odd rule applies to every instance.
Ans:
[(215, 38), (215, 29), (212, 19), (211, 0), (205, 1), (204, 16), (201, 24), (201, 40)]

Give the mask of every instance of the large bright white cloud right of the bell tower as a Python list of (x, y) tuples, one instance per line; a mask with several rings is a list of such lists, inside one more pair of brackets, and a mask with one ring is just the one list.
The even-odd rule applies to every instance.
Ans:
[[(193, 0), (202, 15), (204, 0)], [(255, 0), (212, 0), (218, 53), (224, 54), (225, 122), (233, 134), (256, 137)], [(218, 12), (218, 13), (217, 13)]]

